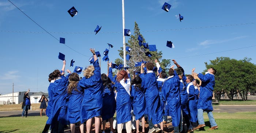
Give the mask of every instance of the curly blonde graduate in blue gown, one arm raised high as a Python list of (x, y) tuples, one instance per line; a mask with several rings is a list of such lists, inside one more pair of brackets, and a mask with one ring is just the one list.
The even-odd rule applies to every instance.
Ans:
[(81, 122), (86, 121), (86, 131), (91, 131), (91, 121), (95, 118), (95, 133), (99, 132), (100, 116), (102, 111), (102, 91), (103, 85), (101, 80), (101, 68), (95, 49), (90, 48), (93, 53), (93, 66), (89, 66), (83, 72), (84, 77), (78, 85), (84, 89), (84, 96), (81, 107)]

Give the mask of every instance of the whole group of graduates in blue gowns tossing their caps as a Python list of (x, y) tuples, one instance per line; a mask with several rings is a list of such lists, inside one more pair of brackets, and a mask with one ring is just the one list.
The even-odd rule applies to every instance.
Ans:
[[(136, 133), (145, 132), (145, 117), (149, 124), (148, 133), (165, 132), (163, 124), (167, 116), (172, 118), (172, 133), (193, 132), (206, 126), (203, 111), (207, 112), (210, 119), (210, 129), (218, 128), (211, 105), (216, 73), (214, 68), (208, 69), (206, 75), (197, 74), (192, 69), (192, 75), (195, 76), (186, 76), (182, 67), (173, 60), (177, 68), (174, 69), (173, 65), (167, 77), (157, 60), (141, 62), (140, 74), (133, 73), (131, 80), (128, 69), (118, 70), (113, 76), (112, 62), (108, 63), (108, 73), (101, 74), (95, 50), (90, 51), (94, 62), (84, 69), (82, 79), (78, 73), (71, 73), (68, 69), (68, 74), (64, 76), (65, 60), (61, 71), (54, 70), (50, 73), (49, 102), (46, 109), (48, 120), (43, 133), (47, 133), (49, 128), (52, 133), (64, 132), (64, 127), (68, 124), (74, 133), (75, 124), (78, 123), (81, 133), (84, 124), (86, 132), (90, 133), (93, 118), (95, 133), (99, 133), (101, 124), (102, 132), (105, 133), (106, 121), (110, 122), (110, 133), (113, 133), (114, 113), (118, 133), (122, 132), (124, 125), (127, 133), (132, 132), (132, 114), (135, 115)], [(157, 74), (153, 71), (155, 66)], [(185, 123), (187, 128), (184, 128)]]

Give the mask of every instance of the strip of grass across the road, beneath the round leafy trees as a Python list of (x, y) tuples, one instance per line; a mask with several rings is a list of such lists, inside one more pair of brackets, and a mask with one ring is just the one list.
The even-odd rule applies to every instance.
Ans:
[(243, 101), (241, 99), (236, 99), (233, 101), (230, 101), (229, 99), (225, 100), (219, 100), (220, 105), (256, 105), (256, 100), (246, 100)]

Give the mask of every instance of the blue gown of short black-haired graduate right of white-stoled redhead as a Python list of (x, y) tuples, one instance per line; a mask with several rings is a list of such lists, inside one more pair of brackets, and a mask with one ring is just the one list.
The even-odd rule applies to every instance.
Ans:
[(135, 85), (131, 86), (131, 96), (133, 98), (132, 106), (133, 106), (133, 113), (135, 115), (135, 119), (138, 120), (142, 118), (145, 114), (145, 95), (143, 91), (136, 90)]

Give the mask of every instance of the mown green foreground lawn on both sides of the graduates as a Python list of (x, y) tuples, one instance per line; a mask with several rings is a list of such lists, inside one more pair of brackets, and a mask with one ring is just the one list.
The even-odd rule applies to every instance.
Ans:
[[(41, 133), (48, 117), (2, 117), (0, 133)], [(194, 133), (253, 133), (256, 125), (256, 112), (214, 113), (219, 129), (208, 130), (210, 122), (204, 113), (206, 127)]]

